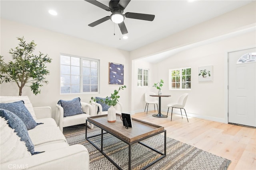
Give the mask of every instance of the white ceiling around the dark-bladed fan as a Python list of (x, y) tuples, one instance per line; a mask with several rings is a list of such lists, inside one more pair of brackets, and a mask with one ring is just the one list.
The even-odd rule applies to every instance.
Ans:
[[(98, 0), (108, 6), (109, 0)], [(117, 49), (132, 51), (193, 25), (210, 20), (254, 0), (131, 0), (124, 13), (154, 14), (154, 21), (126, 18), (128, 39), (111, 20), (92, 23), (107, 12), (84, 0), (1, 0), (1, 18), (72, 35)], [(48, 14), (53, 9), (57, 16)], [(114, 32), (116, 35), (114, 35)]]

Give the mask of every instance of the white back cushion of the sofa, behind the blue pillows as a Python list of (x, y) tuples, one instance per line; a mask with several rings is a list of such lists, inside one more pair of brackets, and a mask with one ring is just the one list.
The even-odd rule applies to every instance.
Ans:
[(34, 112), (33, 106), (28, 98), (28, 96), (0, 96), (0, 102), (1, 103), (12, 103), (12, 102), (18, 102), (20, 100), (24, 101), (24, 104), (30, 114), (32, 115), (33, 119), (36, 120), (36, 114)]

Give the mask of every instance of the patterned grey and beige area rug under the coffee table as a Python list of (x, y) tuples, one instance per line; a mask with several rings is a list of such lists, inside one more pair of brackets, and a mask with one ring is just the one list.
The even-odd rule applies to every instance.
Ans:
[[(88, 137), (100, 134), (99, 128), (88, 129)], [(85, 125), (64, 127), (69, 145), (82, 144), (90, 154), (90, 170), (117, 170), (105, 156), (85, 139)], [(104, 152), (123, 170), (128, 170), (128, 145), (110, 134), (104, 137)], [(100, 136), (91, 138), (100, 147)], [(143, 141), (146, 145), (164, 152), (164, 135), (156, 135)], [(157, 159), (160, 154), (138, 143), (132, 145), (132, 169), (142, 167)], [(230, 160), (216, 156), (204, 150), (187, 145), (180, 141), (166, 138), (166, 157), (162, 158), (148, 170), (226, 170)]]

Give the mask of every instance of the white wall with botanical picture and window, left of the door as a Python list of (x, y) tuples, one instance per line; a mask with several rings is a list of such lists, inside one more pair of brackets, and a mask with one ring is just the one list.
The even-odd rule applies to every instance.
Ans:
[[(176, 102), (178, 96), (189, 93), (186, 111), (195, 117), (227, 122), (227, 53), (249, 47), (256, 47), (255, 32), (246, 33), (234, 38), (225, 39), (209, 45), (202, 45), (182, 51), (165, 61), (158, 63), (158, 77), (168, 82), (168, 70), (173, 68), (191, 67), (191, 90), (169, 90), (168, 83), (162, 89), (164, 94), (172, 95), (162, 98), (162, 110), (167, 111), (167, 104)], [(213, 66), (213, 81), (198, 82), (198, 67)], [(177, 110), (179, 111), (179, 110)]]

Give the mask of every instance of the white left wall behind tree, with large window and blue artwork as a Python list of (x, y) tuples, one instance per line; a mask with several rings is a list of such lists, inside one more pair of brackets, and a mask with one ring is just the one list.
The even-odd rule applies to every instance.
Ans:
[[(4, 61), (11, 60), (8, 51), (18, 46), (19, 41), (16, 37), (24, 36), (26, 42), (32, 40), (37, 44), (34, 54), (41, 51), (52, 58), (52, 63), (47, 64), (50, 75), (47, 76), (49, 84), (44, 85), (41, 93), (34, 95), (29, 87), (24, 87), (22, 96), (28, 96), (34, 107), (51, 106), (52, 117), (55, 115), (55, 105), (58, 100), (72, 100), (80, 97), (83, 102), (89, 102), (91, 96), (109, 96), (119, 85), (108, 84), (108, 63), (124, 64), (124, 85), (125, 90), (120, 92), (120, 102), (124, 103), (123, 111), (130, 111), (130, 59), (129, 52), (122, 51), (88, 42), (83, 39), (68, 35), (31, 27), (8, 20), (1, 19), (1, 53)], [(60, 94), (60, 53), (100, 59), (100, 94)], [(0, 85), (1, 96), (18, 96), (18, 86), (15, 83), (3, 83)]]

